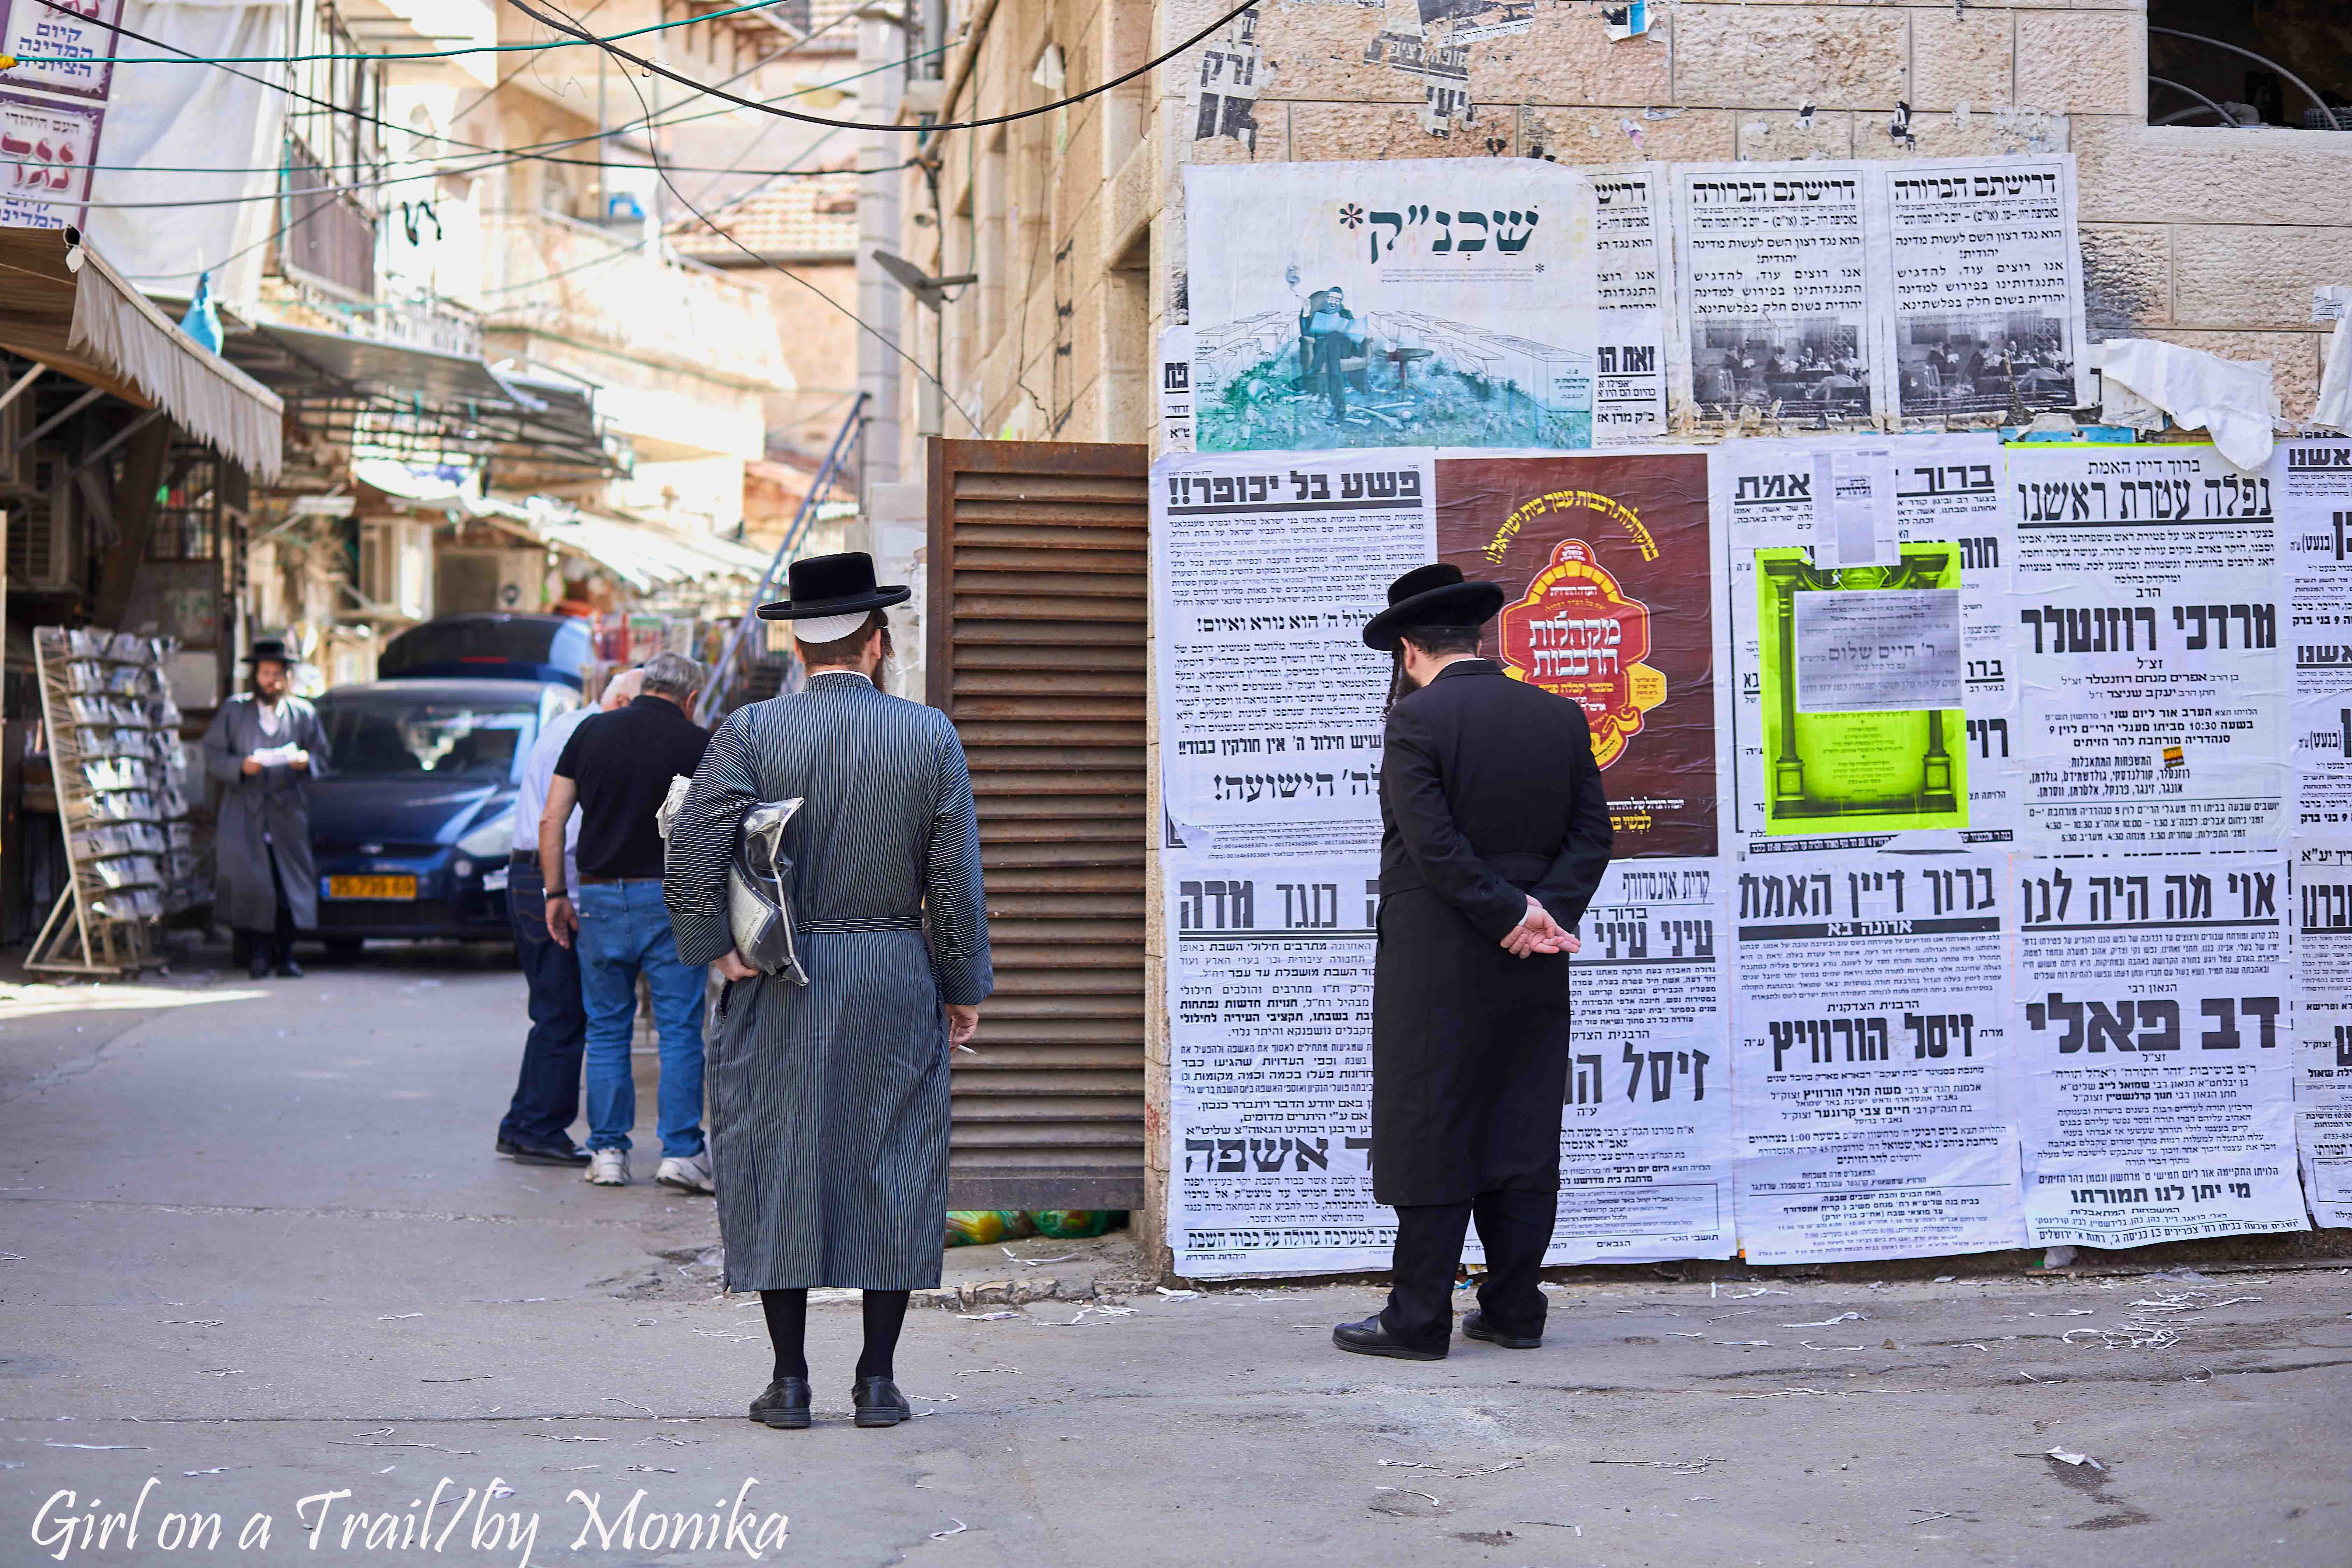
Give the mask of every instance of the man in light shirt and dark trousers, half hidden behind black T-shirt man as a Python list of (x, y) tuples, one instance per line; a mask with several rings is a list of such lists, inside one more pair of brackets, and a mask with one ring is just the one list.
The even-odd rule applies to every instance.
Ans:
[[(588, 1150), (572, 1143), (572, 1119), (581, 1112), (581, 1048), (588, 1041), (588, 1013), (581, 1006), (581, 961), (548, 936), (548, 882), (539, 870), (539, 813), (548, 804), (548, 780), (555, 759), (564, 755), (572, 731), (600, 712), (623, 708), (644, 691), (644, 675), (621, 670), (604, 682), (595, 703), (557, 715), (539, 731), (532, 755), (522, 762), (522, 788), (515, 792), (515, 851), (506, 865), (506, 917), (515, 926), (515, 959), (532, 992), (532, 1032), (522, 1037), (522, 1072), (515, 1098), (499, 1121), (499, 1152), (524, 1166), (586, 1166)], [(555, 886), (579, 886), (572, 863), (581, 839), (579, 806), (564, 818), (564, 863)]]

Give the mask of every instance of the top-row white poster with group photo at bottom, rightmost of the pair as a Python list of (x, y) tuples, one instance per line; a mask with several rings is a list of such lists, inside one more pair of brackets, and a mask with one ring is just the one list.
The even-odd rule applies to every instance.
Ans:
[(2072, 409), (2082, 388), (2074, 158), (1917, 160), (1886, 193), (1896, 411)]

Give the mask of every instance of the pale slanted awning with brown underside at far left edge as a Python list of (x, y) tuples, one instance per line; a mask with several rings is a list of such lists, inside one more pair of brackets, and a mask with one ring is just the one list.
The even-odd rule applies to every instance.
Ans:
[(0, 228), (0, 348), (162, 409), (261, 482), (285, 458), (285, 402), (207, 350), (71, 228)]

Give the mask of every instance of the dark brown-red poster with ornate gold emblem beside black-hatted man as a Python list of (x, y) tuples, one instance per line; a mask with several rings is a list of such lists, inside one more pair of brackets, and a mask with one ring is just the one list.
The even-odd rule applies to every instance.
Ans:
[(1482, 649), (1581, 703), (1616, 853), (1715, 853), (1705, 454), (1442, 458), (1437, 555), (1510, 597)]

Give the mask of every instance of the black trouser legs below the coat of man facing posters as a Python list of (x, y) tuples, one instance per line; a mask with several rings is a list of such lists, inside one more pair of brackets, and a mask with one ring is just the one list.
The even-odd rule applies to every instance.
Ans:
[(1486, 1284), (1477, 1305), (1498, 1333), (1541, 1335), (1543, 1248), (1552, 1244), (1557, 1192), (1505, 1187), (1482, 1192), (1470, 1204), (1399, 1204), (1392, 1286), (1381, 1321), (1414, 1349), (1444, 1349), (1454, 1338), (1454, 1274), (1463, 1262), (1463, 1234), (1477, 1220), (1486, 1244)]

